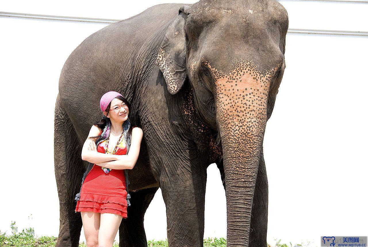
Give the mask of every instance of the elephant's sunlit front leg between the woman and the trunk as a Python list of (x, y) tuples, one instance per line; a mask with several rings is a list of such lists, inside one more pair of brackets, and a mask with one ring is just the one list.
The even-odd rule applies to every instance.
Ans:
[(202, 247), (207, 173), (196, 159), (162, 158), (160, 188), (170, 247)]

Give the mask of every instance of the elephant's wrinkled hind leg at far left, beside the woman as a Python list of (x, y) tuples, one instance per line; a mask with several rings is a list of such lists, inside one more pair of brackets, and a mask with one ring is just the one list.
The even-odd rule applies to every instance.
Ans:
[(66, 111), (60, 105), (59, 95), (54, 124), (54, 167), (60, 201), (60, 228), (56, 247), (77, 247), (82, 218), (79, 212), (75, 213), (74, 197), (79, 192), (85, 168), (81, 159), (81, 145)]

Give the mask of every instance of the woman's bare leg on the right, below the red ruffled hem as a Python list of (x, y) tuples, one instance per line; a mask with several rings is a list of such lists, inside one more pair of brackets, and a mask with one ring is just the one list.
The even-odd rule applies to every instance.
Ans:
[(112, 247), (123, 216), (102, 213), (98, 232), (99, 247)]

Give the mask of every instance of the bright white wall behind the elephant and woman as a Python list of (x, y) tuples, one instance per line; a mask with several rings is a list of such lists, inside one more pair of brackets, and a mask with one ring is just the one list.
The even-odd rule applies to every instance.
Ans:
[[(171, 1), (6, 1), (0, 11), (125, 19), (166, 2)], [(280, 3), (289, 28), (367, 31), (367, 4)], [(72, 50), (104, 26), (0, 18), (0, 230), (7, 235), (11, 221), (19, 230), (33, 227), (38, 236), (59, 233), (53, 125), (60, 71)], [(368, 233), (367, 40), (286, 36), (287, 68), (264, 139), (269, 243), (278, 238), (319, 246), (322, 235)], [(45, 128), (38, 128), (39, 122)], [(206, 190), (204, 237), (226, 237), (226, 200), (215, 164), (208, 168)], [(146, 212), (145, 229), (147, 239), (167, 237), (160, 190)]]

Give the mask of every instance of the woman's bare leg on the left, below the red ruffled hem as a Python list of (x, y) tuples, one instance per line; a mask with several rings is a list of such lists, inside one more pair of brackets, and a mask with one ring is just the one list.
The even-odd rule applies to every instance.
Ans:
[(100, 213), (81, 212), (84, 236), (87, 247), (98, 247), (98, 233), (100, 229)]

